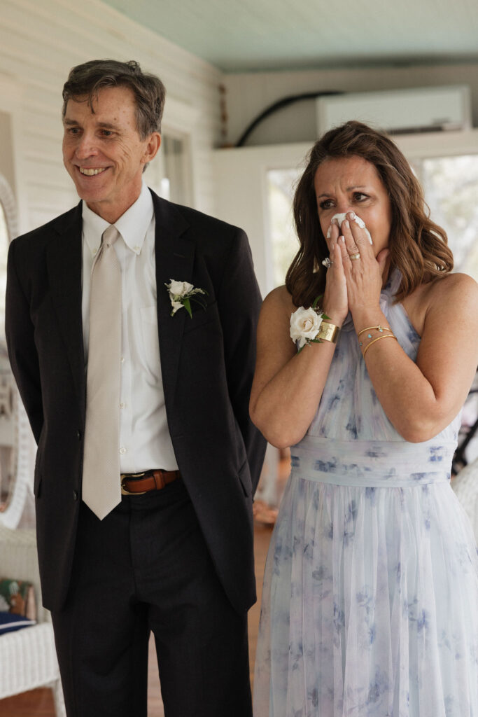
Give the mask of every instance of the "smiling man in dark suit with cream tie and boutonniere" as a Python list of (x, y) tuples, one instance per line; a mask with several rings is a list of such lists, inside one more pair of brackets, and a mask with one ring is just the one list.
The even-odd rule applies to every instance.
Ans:
[(247, 717), (264, 455), (248, 414), (260, 298), (247, 237), (143, 184), (157, 77), (87, 62), (63, 98), (82, 201), (12, 242), (6, 334), (38, 443), (67, 712), (145, 716), (153, 630), (167, 717)]

